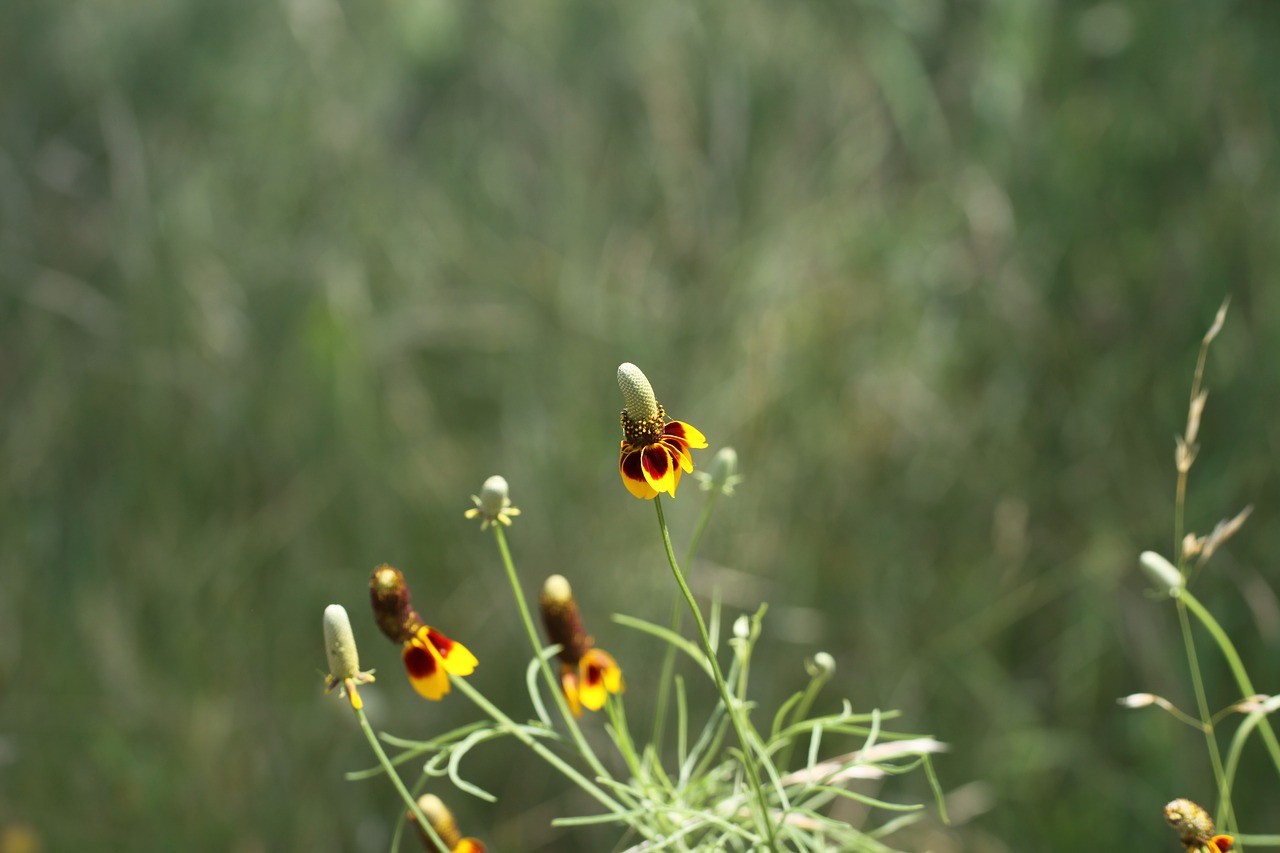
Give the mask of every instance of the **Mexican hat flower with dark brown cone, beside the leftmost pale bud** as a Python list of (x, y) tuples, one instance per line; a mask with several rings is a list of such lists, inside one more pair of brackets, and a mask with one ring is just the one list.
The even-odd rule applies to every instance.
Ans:
[(449, 692), (449, 675), (471, 675), (476, 656), (434, 628), (425, 625), (410, 605), (408, 584), (398, 569), (381, 565), (369, 579), (369, 598), (378, 626), (393, 643), (402, 643), (401, 660), (413, 689), (428, 699)]

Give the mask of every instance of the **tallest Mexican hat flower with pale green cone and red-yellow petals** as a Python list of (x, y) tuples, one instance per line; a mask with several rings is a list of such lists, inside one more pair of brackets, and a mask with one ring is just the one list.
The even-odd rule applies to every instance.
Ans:
[(618, 365), (618, 388), (626, 401), (618, 456), (622, 484), (637, 498), (652, 500), (659, 492), (676, 497), (681, 471), (694, 470), (689, 448), (707, 447), (707, 438), (682, 420), (667, 420), (653, 386), (634, 364)]

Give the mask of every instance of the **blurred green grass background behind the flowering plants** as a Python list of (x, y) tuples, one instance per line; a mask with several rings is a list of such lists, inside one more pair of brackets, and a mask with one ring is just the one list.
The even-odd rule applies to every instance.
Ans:
[[(0, 826), (384, 849), (320, 613), (356, 619), (376, 726), (474, 719), (374, 630), (389, 561), (527, 715), (462, 519), (494, 473), (527, 589), (573, 581), (637, 719), (658, 652), (608, 613), (671, 584), (616, 471), (635, 361), (741, 455), (692, 574), (771, 603), (763, 713), (827, 649), (828, 710), (904, 710), (975, 784), (899, 843), (1176, 849), (1203, 740), (1115, 698), (1193, 707), (1135, 566), (1228, 295), (1188, 523), (1257, 505), (1198, 592), (1280, 676), (1277, 38), (1268, 3), (6, 0)], [(1276, 833), (1257, 758), (1240, 820)], [(495, 849), (607, 849), (547, 826), (590, 804), (515, 744), (470, 767), (498, 806), (439, 793)]]

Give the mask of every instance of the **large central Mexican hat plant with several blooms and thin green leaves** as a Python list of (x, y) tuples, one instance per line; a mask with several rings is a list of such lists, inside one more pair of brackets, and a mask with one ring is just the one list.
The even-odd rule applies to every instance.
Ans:
[[(586, 633), (573, 590), (562, 575), (552, 575), (541, 588), (538, 605), (545, 635), (539, 634), (507, 542), (507, 530), (516, 529), (512, 519), (520, 511), (511, 505), (507, 480), (490, 476), (480, 494), (472, 496), (474, 506), (465, 516), (480, 520), (480, 529), (494, 538), (529, 640), (526, 685), (535, 719), (517, 722), (472, 684), (475, 679), (462, 678), (476, 669), (475, 656), (462, 643), (428, 628), (410, 606), (403, 574), (379, 566), (370, 579), (375, 621), (402, 644), (413, 689), (425, 698), (442, 699), (452, 685), (475, 704), (481, 719), (452, 731), (426, 731), (425, 739), (383, 735), (383, 743), (399, 751), (389, 760), (370, 733), (379, 763), (348, 774), (348, 779), (390, 776), (407, 806), (407, 812), (398, 809), (401, 816), (416, 826), (428, 850), (448, 853), (484, 848), (475, 839), (461, 838), (452, 815), (447, 821), (440, 817), (443, 804), (435, 794), (415, 797), (447, 779), (462, 793), (494, 802), (490, 793), (465, 777), (462, 765), (474, 747), (497, 739), (516, 740), (595, 806), (590, 813), (557, 817), (553, 825), (566, 831), (585, 825), (616, 827), (620, 850), (890, 850), (883, 839), (918, 820), (925, 807), (877, 798), (856, 785), (915, 770), (927, 775), (946, 820), (931, 760), (945, 749), (942, 743), (890, 731), (886, 724), (896, 712), (858, 712), (847, 699), (814, 712), (823, 688), (836, 675), (831, 654), (818, 652), (809, 658), (806, 683), (778, 708), (765, 712), (750, 698), (751, 660), (765, 630), (765, 606), (737, 616), (730, 637), (721, 637), (724, 615), (716, 603), (704, 613), (694, 598), (664, 516), (663, 496), (675, 498), (681, 475), (695, 473), (691, 451), (707, 447), (707, 439), (690, 424), (667, 418), (639, 368), (623, 364), (617, 375), (626, 403), (618, 470), (626, 491), (654, 506), (662, 553), (676, 587), (668, 625), (625, 613), (613, 616), (616, 626), (640, 631), (643, 643), (663, 652), (644, 658), (662, 660), (649, 736), (635, 735), (625, 707), (623, 666)], [(721, 448), (710, 473), (699, 479), (705, 497), (685, 565), (692, 562), (718, 498), (732, 496), (741, 482), (737, 455)], [(685, 611), (695, 626), (692, 639), (681, 630)], [(558, 658), (558, 672), (553, 658)], [(680, 661), (685, 666), (678, 666)], [(349, 681), (346, 689), (351, 692), (356, 681), (352, 672), (358, 667), (339, 669), (329, 683)], [(635, 662), (628, 672), (628, 678), (646, 681), (654, 678)], [(717, 699), (709, 708), (691, 706), (689, 679), (714, 685)], [(585, 716), (584, 710), (603, 711), (603, 720)], [(364, 721), (362, 711), (357, 708), (357, 713)], [(603, 727), (604, 738), (589, 739), (584, 726)], [(598, 748), (600, 744), (608, 748)], [(849, 749), (854, 744), (858, 748)], [(406, 766), (419, 768), (412, 790), (399, 776)], [(870, 818), (868, 825), (850, 825), (829, 815), (840, 799), (861, 803), (869, 816), (891, 817), (879, 826)], [(397, 826), (393, 849), (404, 826)]]

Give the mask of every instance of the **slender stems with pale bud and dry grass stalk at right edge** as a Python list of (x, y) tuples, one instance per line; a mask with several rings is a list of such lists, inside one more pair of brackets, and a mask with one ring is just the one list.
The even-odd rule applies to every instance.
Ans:
[[(1208, 332), (1206, 332), (1201, 341), (1199, 357), (1197, 359), (1196, 371), (1192, 378), (1187, 424), (1183, 433), (1175, 437), (1174, 558), (1169, 560), (1155, 551), (1146, 551), (1138, 558), (1138, 565), (1151, 581), (1155, 594), (1171, 599), (1178, 612), (1178, 624), (1187, 654), (1188, 672), (1196, 697), (1196, 712), (1183, 711), (1171, 701), (1153, 693), (1134, 693), (1119, 699), (1123, 707), (1130, 710), (1161, 708), (1175, 720), (1199, 730), (1204, 736), (1210, 766), (1213, 772), (1212, 785), (1217, 798), (1215, 816), (1211, 817), (1207, 809), (1185, 798), (1171, 800), (1164, 809), (1165, 820), (1178, 831), (1183, 845), (1188, 850), (1199, 853), (1242, 852), (1245, 843), (1271, 847), (1280, 844), (1280, 836), (1276, 835), (1242, 835), (1235, 809), (1231, 804), (1231, 792), (1235, 785), (1236, 770), (1244, 747), (1254, 730), (1261, 734), (1271, 763), (1276, 774), (1280, 775), (1280, 740), (1277, 740), (1270, 722), (1270, 715), (1280, 708), (1280, 697), (1260, 695), (1256, 692), (1253, 680), (1245, 671), (1234, 642), (1213, 615), (1201, 603), (1199, 598), (1190, 592), (1192, 584), (1201, 576), (1210, 557), (1230, 537), (1240, 530), (1244, 521), (1249, 517), (1252, 507), (1244, 507), (1236, 515), (1219, 521), (1206, 535), (1188, 533), (1184, 529), (1188, 476), (1199, 452), (1197, 442), (1201, 420), (1204, 414), (1204, 403), (1208, 400), (1208, 392), (1202, 387), (1204, 362), (1208, 357), (1210, 345), (1222, 330), (1222, 324), (1226, 320), (1226, 309), (1228, 304), (1224, 302)], [(1204, 678), (1197, 651), (1193, 620), (1213, 640), (1239, 689), (1239, 694), (1233, 697), (1231, 702), (1217, 712), (1211, 711), (1208, 694), (1204, 689)], [(1219, 743), (1219, 730), (1221, 724), (1230, 719), (1239, 719), (1240, 722), (1230, 738), (1224, 760), (1221, 744)], [(1225, 831), (1219, 831), (1219, 827)]]

